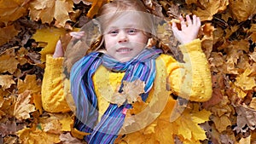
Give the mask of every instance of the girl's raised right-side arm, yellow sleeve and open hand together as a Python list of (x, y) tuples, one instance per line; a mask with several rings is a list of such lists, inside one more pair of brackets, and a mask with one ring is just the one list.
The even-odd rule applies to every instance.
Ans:
[(201, 40), (195, 39), (201, 26), (201, 21), (193, 15), (193, 20), (183, 17), (181, 30), (176, 23), (172, 24), (172, 31), (182, 45), (185, 63), (174, 62), (168, 66), (170, 76), (168, 82), (172, 91), (191, 101), (207, 101), (212, 96), (212, 78), (206, 55), (201, 49)]

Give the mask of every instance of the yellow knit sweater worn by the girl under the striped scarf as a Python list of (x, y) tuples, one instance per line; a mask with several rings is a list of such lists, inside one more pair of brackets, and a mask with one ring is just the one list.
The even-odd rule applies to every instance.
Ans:
[[(207, 101), (212, 96), (212, 78), (206, 56), (201, 50), (201, 41), (194, 40), (181, 46), (183, 60), (179, 63), (170, 55), (160, 55), (156, 59), (156, 78), (154, 87), (148, 95), (149, 103), (154, 97), (168, 95), (160, 105), (168, 106), (168, 111), (175, 105), (171, 93), (190, 101)], [(45, 111), (68, 112), (70, 108), (65, 99), (62, 81), (63, 58), (46, 57), (46, 67), (42, 85), (42, 103)], [(93, 76), (100, 113), (108, 108), (109, 98), (120, 84), (124, 72), (109, 72), (100, 66)], [(162, 97), (162, 96), (160, 96)], [(167, 103), (166, 103), (167, 102)]]

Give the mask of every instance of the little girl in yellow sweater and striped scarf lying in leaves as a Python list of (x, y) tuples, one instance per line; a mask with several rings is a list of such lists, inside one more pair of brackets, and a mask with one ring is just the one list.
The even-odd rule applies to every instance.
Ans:
[[(115, 0), (103, 5), (99, 12), (99, 17), (102, 17), (99, 19), (102, 43), (94, 47), (96, 49), (90, 49), (92, 52), (73, 65), (70, 82), (76, 106), (74, 128), (89, 134), (84, 136), (88, 143), (125, 142), (120, 135), (127, 134), (124, 137), (129, 137), (137, 129), (130, 127), (125, 130), (125, 118), (139, 98), (154, 107), (150, 112), (158, 113), (163, 108), (156, 107), (174, 107), (172, 93), (190, 101), (207, 101), (212, 95), (211, 73), (201, 50), (201, 42), (195, 39), (201, 26), (200, 19), (193, 15), (191, 20), (187, 15), (186, 23), (181, 17), (181, 30), (177, 29), (176, 23), (172, 24), (175, 37), (182, 43), (180, 48), (184, 63), (179, 63), (171, 55), (163, 54), (162, 49), (146, 47), (148, 38), (154, 35), (150, 18), (142, 16), (146, 12), (147, 9), (139, 1)], [(57, 50), (61, 48), (60, 44), (57, 43), (55, 57), (63, 55)], [(129, 89), (126, 88), (127, 82), (143, 83), (143, 91), (137, 94), (139, 98), (131, 101), (125, 95)], [(43, 87), (46, 85), (43, 82)], [(49, 95), (43, 92), (42, 95), (43, 106), (49, 107)], [(63, 101), (62, 95), (61, 98)], [(117, 99), (123, 101), (117, 102)], [(150, 101), (156, 102), (150, 104)], [(67, 107), (67, 103), (60, 101), (55, 105), (49, 108), (49, 112), (54, 112), (56, 107)], [(150, 124), (157, 121), (158, 116), (153, 119), (148, 116), (143, 122)], [(134, 123), (137, 125), (140, 122)]]

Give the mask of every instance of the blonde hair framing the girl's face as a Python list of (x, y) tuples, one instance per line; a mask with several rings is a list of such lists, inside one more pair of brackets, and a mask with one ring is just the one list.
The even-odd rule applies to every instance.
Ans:
[[(104, 32), (104, 26), (108, 26), (113, 20), (116, 20), (124, 14), (125, 11), (133, 11), (133, 12), (140, 12), (140, 13), (146, 13), (143, 14), (141, 17), (143, 21), (143, 26), (146, 32), (145, 34), (149, 37), (151, 37), (151, 34), (154, 34), (154, 24), (151, 18), (151, 14), (149, 14), (149, 11), (147, 7), (144, 5), (144, 3), (140, 0), (113, 0), (111, 3), (106, 3), (102, 6), (102, 8), (99, 10), (96, 17), (100, 17), (98, 19), (100, 23), (100, 29), (101, 32)], [(98, 49), (103, 49), (103, 36), (101, 35), (90, 44), (90, 49), (88, 50), (88, 53), (91, 51), (96, 51)]]

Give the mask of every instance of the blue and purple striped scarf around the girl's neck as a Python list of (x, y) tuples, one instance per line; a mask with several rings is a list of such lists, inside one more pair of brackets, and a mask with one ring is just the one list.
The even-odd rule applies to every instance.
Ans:
[[(143, 101), (148, 97), (155, 78), (155, 59), (162, 53), (161, 49), (143, 49), (143, 51), (130, 61), (121, 63), (109, 55), (93, 52), (77, 61), (71, 71), (71, 93), (76, 105), (76, 118), (74, 128), (90, 135), (84, 136), (88, 143), (109, 144), (117, 138), (121, 129), (125, 113), (124, 108), (131, 108), (131, 104), (120, 107), (110, 103), (104, 112), (100, 122), (97, 124), (98, 107), (97, 98), (92, 81), (92, 76), (99, 66), (105, 66), (113, 72), (125, 72), (123, 81), (132, 82), (140, 79), (145, 82), (144, 91), (141, 96)], [(119, 88), (122, 91), (123, 84)]]

